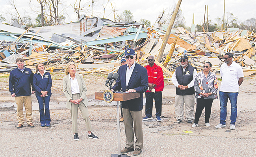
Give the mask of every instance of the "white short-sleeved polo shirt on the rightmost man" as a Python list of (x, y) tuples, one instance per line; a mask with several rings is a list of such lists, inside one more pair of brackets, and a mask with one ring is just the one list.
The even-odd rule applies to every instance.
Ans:
[(227, 93), (237, 93), (238, 80), (243, 77), (243, 68), (234, 61), (230, 66), (224, 63), (221, 65), (221, 77), (221, 88), (219, 90)]

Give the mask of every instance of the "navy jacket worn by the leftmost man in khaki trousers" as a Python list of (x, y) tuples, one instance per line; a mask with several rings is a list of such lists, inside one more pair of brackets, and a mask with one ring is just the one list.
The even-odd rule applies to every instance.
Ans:
[(18, 68), (11, 71), (9, 77), (9, 91), (11, 94), (15, 93), (17, 97), (31, 95), (30, 84), (34, 91), (33, 73), (30, 68), (24, 67), (23, 73)]

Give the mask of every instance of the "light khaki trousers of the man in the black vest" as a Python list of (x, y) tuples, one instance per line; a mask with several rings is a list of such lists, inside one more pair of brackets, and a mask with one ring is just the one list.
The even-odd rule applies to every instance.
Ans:
[(193, 120), (193, 114), (194, 114), (194, 106), (195, 106), (195, 95), (176, 95), (175, 102), (174, 102), (174, 108), (175, 108), (175, 114), (176, 119), (183, 120), (184, 119), (184, 111), (183, 106), (185, 103), (186, 108), (186, 119), (187, 120)]

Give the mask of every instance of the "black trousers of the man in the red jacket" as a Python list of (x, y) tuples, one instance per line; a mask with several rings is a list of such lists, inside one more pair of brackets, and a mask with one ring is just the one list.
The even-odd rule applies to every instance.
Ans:
[(156, 91), (155, 93), (146, 93), (146, 116), (152, 117), (153, 99), (155, 99), (156, 117), (161, 117), (162, 114), (162, 91)]

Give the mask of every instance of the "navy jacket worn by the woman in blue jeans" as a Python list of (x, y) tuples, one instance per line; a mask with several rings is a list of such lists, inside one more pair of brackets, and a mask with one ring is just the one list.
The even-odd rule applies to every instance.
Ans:
[(52, 87), (52, 77), (50, 73), (45, 73), (42, 76), (39, 73), (35, 73), (34, 75), (34, 88), (35, 88), (35, 95), (40, 96), (42, 95), (41, 91), (48, 91), (47, 95), (52, 95), (51, 87)]

